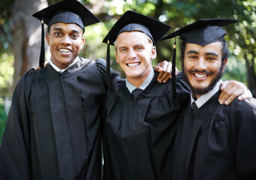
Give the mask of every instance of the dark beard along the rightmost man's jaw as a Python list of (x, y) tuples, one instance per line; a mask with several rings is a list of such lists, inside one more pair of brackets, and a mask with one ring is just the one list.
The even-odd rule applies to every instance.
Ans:
[[(205, 95), (207, 92), (211, 91), (215, 84), (218, 82), (218, 80), (221, 80), (221, 77), (223, 75), (223, 70), (224, 70), (224, 63), (222, 62), (221, 63), (221, 68), (219, 69), (218, 71), (218, 74), (217, 76), (212, 80), (212, 82), (209, 84), (209, 86), (207, 88), (204, 88), (204, 89), (200, 89), (200, 88), (197, 88), (195, 89), (191, 83), (188, 81), (188, 72), (185, 70), (184, 68), (184, 65), (182, 66), (182, 71), (184, 72), (185, 74), (185, 82), (188, 83), (188, 86), (190, 88), (190, 91), (191, 91), (191, 94), (193, 95), (193, 97), (195, 97), (195, 95)], [(200, 72), (200, 71), (197, 71), (195, 70), (196, 72)], [(193, 72), (195, 72), (193, 71)], [(212, 72), (209, 72), (209, 74), (213, 74)]]

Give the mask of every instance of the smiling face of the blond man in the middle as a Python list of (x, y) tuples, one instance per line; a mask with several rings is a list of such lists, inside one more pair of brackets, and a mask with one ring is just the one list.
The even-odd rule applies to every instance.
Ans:
[(139, 87), (152, 71), (155, 46), (140, 31), (124, 31), (116, 39), (116, 62), (119, 63), (129, 83)]

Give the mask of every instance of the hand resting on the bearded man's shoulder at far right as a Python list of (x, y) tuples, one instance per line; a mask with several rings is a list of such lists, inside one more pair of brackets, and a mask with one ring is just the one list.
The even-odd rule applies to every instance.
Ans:
[(239, 101), (245, 98), (251, 98), (251, 92), (243, 84), (235, 80), (224, 81), (221, 83), (221, 95), (218, 97), (219, 104), (230, 104), (238, 97)]

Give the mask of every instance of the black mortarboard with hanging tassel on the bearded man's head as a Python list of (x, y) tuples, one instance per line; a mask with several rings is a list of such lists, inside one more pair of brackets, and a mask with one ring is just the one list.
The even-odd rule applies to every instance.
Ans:
[[(224, 39), (226, 31), (222, 26), (227, 26), (232, 23), (238, 22), (237, 20), (229, 19), (201, 19), (196, 22), (179, 28), (179, 30), (163, 37), (161, 40), (170, 39), (179, 36), (179, 39), (186, 43), (196, 43), (200, 46), (206, 46), (209, 43), (218, 42)], [(173, 68), (176, 65), (176, 38), (173, 46)], [(173, 70), (172, 70), (173, 71)], [(175, 69), (172, 72), (173, 84), (176, 82)], [(174, 74), (174, 75), (173, 75)], [(173, 86), (174, 98), (176, 98), (176, 88)]]

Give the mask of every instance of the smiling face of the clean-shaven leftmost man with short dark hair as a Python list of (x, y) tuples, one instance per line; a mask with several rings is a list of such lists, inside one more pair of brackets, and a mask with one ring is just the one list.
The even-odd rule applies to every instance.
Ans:
[(83, 47), (82, 29), (76, 24), (55, 23), (46, 36), (51, 61), (60, 69), (68, 68)]

